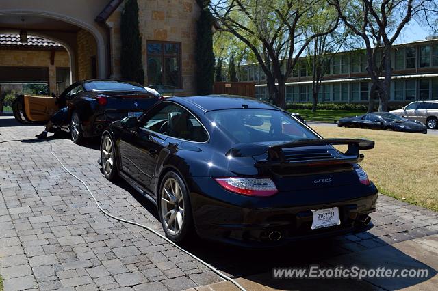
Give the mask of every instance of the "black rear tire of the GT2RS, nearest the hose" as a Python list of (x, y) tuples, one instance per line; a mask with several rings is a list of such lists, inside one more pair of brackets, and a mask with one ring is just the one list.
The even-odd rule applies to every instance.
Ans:
[[(171, 223), (167, 223), (166, 222), (166, 217), (164, 215), (170, 213), (172, 210), (168, 210), (168, 206), (170, 206), (170, 208), (174, 207), (172, 206), (172, 203), (170, 202), (170, 199), (168, 200), (169, 202), (166, 202), (164, 199), (166, 199), (166, 194), (164, 191), (164, 188), (168, 187), (168, 183), (172, 183), (172, 182), (177, 182), (179, 188), (181, 189), (181, 195), (182, 195), (182, 199), (183, 199), (183, 215), (181, 216), (181, 224), (179, 223), (179, 219), (178, 219), (178, 213), (175, 214), (175, 217), (173, 219), (174, 221), (174, 227), (173, 230), (172, 229), (172, 225), (168, 225)], [(177, 197), (177, 195), (174, 194), (174, 197)], [(159, 220), (162, 222), (162, 227), (164, 232), (166, 233), (166, 236), (172, 240), (172, 242), (174, 243), (180, 243), (183, 241), (187, 241), (190, 239), (191, 235), (193, 235), (193, 217), (192, 217), (192, 206), (190, 206), (190, 198), (188, 196), (188, 190), (185, 187), (185, 183), (184, 181), (181, 179), (181, 177), (175, 173), (174, 171), (168, 171), (164, 177), (162, 178), (162, 182), (159, 186), (159, 193), (157, 193), (157, 204), (158, 204), (158, 214), (159, 214)], [(177, 200), (177, 199), (176, 199)], [(174, 212), (179, 212), (180, 210), (180, 206), (181, 203), (180, 202), (176, 202), (178, 204), (178, 208), (177, 206), (175, 206), (175, 208), (173, 209)], [(166, 204), (166, 205), (164, 205)], [(168, 210), (168, 212), (164, 213), (163, 210)], [(172, 214), (170, 214), (170, 217), (172, 217)], [(170, 220), (169, 217), (169, 220)], [(169, 221), (168, 220), (168, 221)], [(179, 227), (177, 227), (177, 224), (179, 225)], [(178, 228), (178, 230), (177, 230)]]

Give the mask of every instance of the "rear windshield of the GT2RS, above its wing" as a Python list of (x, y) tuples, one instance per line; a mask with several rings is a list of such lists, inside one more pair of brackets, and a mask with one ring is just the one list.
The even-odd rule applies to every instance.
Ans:
[(205, 114), (212, 124), (237, 143), (317, 139), (291, 115), (269, 109), (224, 109)]

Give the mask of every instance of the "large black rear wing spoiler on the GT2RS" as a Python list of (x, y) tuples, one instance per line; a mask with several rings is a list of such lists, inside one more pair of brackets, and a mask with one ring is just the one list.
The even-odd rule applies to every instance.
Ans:
[[(307, 146), (337, 146), (348, 145), (346, 152), (339, 152), (339, 156), (335, 158), (322, 158), (312, 161), (289, 162), (285, 158), (284, 148), (298, 148)], [(295, 167), (300, 165), (324, 165), (324, 164), (339, 164), (339, 163), (358, 163), (363, 159), (363, 154), (360, 150), (371, 150), (374, 148), (374, 141), (368, 139), (304, 139), (291, 141), (288, 143), (278, 143), (274, 145), (263, 145), (260, 143), (240, 143), (231, 148), (227, 155), (231, 156), (259, 156), (268, 152), (267, 161), (259, 161), (255, 164), (256, 167)]]

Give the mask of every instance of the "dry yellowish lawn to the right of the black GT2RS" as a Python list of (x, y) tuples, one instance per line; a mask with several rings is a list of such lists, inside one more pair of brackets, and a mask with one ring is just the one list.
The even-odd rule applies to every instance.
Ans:
[[(438, 211), (438, 137), (418, 133), (312, 126), (322, 137), (370, 139), (361, 166), (380, 193)], [(343, 150), (346, 150), (344, 147)]]

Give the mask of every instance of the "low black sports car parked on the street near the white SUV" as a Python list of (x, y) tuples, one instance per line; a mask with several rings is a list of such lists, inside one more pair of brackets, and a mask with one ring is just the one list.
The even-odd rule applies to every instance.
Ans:
[(407, 120), (404, 117), (387, 112), (373, 112), (361, 116), (341, 118), (337, 122), (337, 126), (427, 133), (427, 127), (422, 122)]

